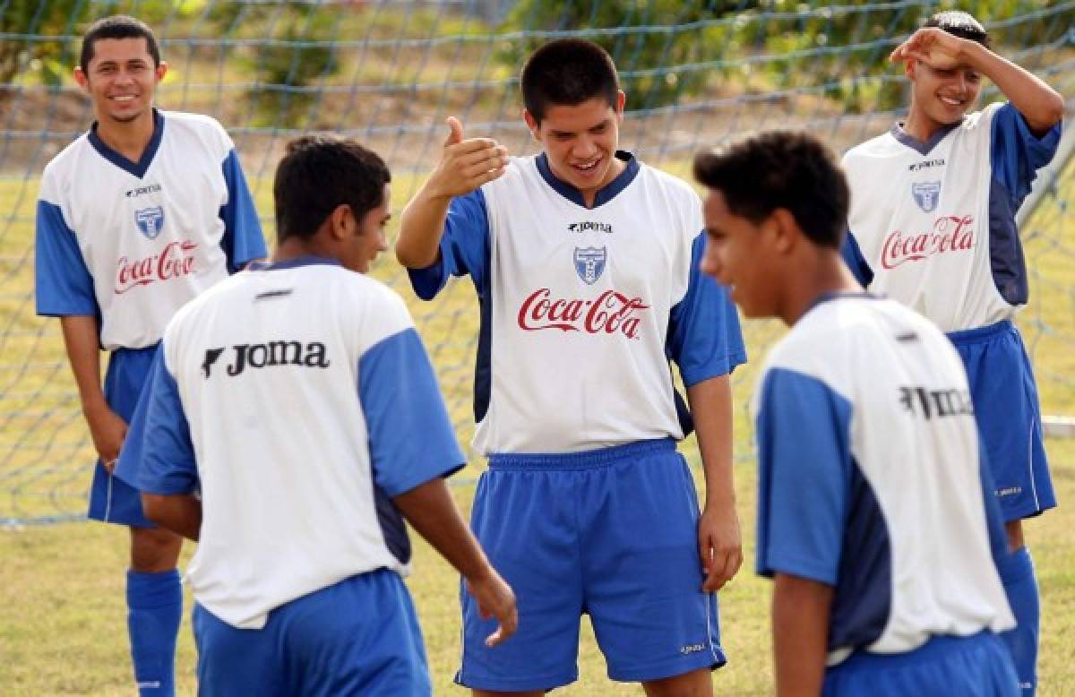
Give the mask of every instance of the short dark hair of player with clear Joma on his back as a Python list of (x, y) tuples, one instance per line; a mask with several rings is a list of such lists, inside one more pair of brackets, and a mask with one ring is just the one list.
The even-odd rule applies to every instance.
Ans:
[(287, 144), (272, 194), (276, 241), (310, 238), (340, 204), (355, 217), (384, 203), (391, 173), (381, 156), (349, 138), (303, 136)]

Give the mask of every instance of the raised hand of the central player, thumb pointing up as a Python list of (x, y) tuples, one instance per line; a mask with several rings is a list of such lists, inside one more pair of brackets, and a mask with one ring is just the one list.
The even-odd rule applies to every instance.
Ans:
[(463, 125), (455, 116), (448, 116), (446, 123), (448, 134), (441, 161), (426, 185), (430, 194), (447, 198), (463, 196), (504, 173), (506, 147), (491, 138), (463, 138)]

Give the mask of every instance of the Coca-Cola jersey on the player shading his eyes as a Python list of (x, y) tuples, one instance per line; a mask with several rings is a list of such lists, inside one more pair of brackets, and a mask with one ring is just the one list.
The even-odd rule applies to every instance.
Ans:
[(1059, 136), (1058, 124), (1037, 138), (994, 103), (928, 143), (897, 126), (851, 148), (852, 271), (944, 331), (1010, 319), (1028, 296), (1015, 214)]

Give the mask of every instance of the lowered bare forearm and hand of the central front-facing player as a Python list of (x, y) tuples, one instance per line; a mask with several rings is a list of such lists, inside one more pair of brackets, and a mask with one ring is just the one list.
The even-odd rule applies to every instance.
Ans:
[(699, 554), (706, 593), (720, 589), (743, 564), (732, 475), (732, 390), (728, 375), (687, 388), (698, 450), (705, 472), (705, 506), (698, 526)]

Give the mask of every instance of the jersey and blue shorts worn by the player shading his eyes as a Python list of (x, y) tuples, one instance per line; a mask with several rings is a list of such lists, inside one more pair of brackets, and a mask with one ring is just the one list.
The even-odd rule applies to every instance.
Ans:
[(872, 293), (956, 344), (1006, 521), (1056, 506), (1037, 387), (1012, 318), (1028, 300), (1015, 215), (1060, 129), (1035, 136), (1010, 103), (994, 103), (926, 143), (894, 126), (843, 162), (852, 183), (844, 257)]

